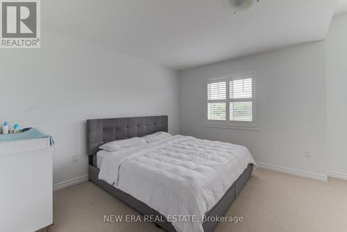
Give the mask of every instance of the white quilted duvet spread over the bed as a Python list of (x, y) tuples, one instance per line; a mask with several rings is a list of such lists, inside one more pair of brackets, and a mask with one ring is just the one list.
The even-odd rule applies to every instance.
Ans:
[(174, 135), (113, 151), (103, 159), (99, 179), (167, 218), (195, 215), (198, 220), (171, 223), (177, 231), (202, 232), (203, 215), (249, 163), (255, 161), (246, 147)]

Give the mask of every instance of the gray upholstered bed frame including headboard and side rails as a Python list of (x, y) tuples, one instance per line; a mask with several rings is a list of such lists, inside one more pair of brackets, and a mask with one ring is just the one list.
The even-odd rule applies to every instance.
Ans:
[[(147, 206), (142, 201), (135, 199), (126, 192), (98, 179), (100, 169), (96, 166), (96, 152), (99, 146), (106, 142), (124, 140), (133, 137), (142, 137), (157, 131), (167, 132), (167, 116), (149, 117), (123, 117), (113, 119), (89, 119), (87, 120), (87, 155), (89, 156), (89, 179), (99, 187), (110, 192), (112, 195), (124, 201), (131, 208), (134, 208), (143, 215), (154, 215), (164, 218), (158, 211)], [(230, 186), (226, 194), (219, 202), (206, 213), (206, 216), (223, 216), (229, 206), (235, 200), (239, 192), (252, 174), (253, 165), (248, 165), (243, 174)], [(177, 232), (171, 222), (156, 222), (157, 226), (165, 231)], [(217, 222), (203, 222), (205, 232), (210, 232)]]

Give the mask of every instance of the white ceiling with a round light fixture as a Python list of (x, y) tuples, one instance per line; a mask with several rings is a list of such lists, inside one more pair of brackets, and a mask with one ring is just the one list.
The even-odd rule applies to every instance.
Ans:
[(42, 1), (42, 31), (182, 70), (323, 40), (336, 2), (260, 0), (233, 14), (228, 0), (49, 0)]

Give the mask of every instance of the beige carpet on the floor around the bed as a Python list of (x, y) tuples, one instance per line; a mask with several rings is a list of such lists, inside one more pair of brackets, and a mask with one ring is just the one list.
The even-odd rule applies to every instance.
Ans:
[[(162, 231), (151, 222), (103, 222), (103, 215), (135, 210), (91, 182), (53, 194), (54, 232)], [(257, 169), (226, 215), (244, 222), (221, 222), (217, 231), (347, 231), (347, 181), (328, 183)]]

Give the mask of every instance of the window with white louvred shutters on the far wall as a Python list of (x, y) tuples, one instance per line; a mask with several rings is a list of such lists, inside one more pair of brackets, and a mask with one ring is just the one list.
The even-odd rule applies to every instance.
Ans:
[(206, 88), (205, 126), (255, 128), (255, 72), (211, 79)]

